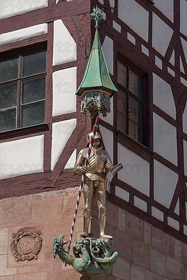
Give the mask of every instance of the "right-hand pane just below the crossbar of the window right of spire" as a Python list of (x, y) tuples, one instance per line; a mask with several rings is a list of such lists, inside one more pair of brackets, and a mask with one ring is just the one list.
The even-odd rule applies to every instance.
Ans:
[(129, 119), (141, 124), (141, 103), (129, 96), (129, 105), (128, 105), (128, 116)]

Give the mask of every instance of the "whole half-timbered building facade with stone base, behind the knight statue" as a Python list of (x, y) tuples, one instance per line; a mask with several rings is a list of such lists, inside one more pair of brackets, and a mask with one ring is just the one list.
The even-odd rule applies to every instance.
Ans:
[[(123, 164), (107, 194), (106, 231), (120, 253), (108, 278), (187, 279), (187, 1), (2, 0), (1, 280), (90, 279), (62, 267), (51, 249), (55, 236), (70, 234), (81, 179), (72, 169), (93, 125), (75, 93), (96, 5), (118, 89), (99, 132), (113, 163)], [(73, 240), (82, 214), (83, 198)], [(41, 250), (16, 261), (14, 233), (28, 228), (40, 232)], [(25, 242), (18, 253), (26, 256), (36, 244)]]

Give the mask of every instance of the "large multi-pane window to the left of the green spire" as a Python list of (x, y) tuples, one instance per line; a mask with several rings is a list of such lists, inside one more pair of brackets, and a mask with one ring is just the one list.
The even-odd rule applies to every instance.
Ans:
[(0, 132), (44, 123), (46, 49), (0, 62)]

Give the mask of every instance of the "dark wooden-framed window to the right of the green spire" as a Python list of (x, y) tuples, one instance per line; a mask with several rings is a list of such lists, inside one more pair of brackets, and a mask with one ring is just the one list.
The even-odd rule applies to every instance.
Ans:
[(117, 130), (143, 143), (143, 76), (118, 61)]

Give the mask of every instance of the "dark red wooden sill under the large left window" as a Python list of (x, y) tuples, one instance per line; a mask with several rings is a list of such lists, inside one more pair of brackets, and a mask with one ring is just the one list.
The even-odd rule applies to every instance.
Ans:
[(22, 127), (14, 130), (0, 132), (0, 140), (10, 139), (19, 136), (25, 136), (37, 132), (49, 130), (48, 124), (38, 124), (29, 127)]

